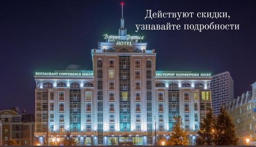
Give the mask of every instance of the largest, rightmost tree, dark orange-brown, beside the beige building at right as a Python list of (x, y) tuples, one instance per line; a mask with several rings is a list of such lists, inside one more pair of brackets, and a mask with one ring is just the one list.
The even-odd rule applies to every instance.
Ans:
[(234, 133), (234, 124), (224, 107), (221, 107), (220, 114), (215, 123), (214, 132), (215, 145), (237, 145), (238, 138)]

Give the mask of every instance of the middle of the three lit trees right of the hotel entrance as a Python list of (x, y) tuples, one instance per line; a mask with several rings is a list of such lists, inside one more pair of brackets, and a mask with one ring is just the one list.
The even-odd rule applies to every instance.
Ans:
[(197, 145), (214, 145), (215, 117), (212, 109), (208, 111), (206, 117), (200, 122), (198, 131)]

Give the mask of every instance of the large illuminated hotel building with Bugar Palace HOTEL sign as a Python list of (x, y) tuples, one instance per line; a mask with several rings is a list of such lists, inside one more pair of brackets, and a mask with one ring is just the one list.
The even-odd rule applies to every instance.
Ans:
[(39, 142), (69, 131), (81, 145), (151, 145), (155, 131), (157, 141), (167, 138), (181, 115), (195, 144), (211, 107), (211, 75), (156, 71), (155, 50), (127, 35), (123, 18), (119, 35), (104, 39), (92, 50), (93, 70), (35, 72)]

